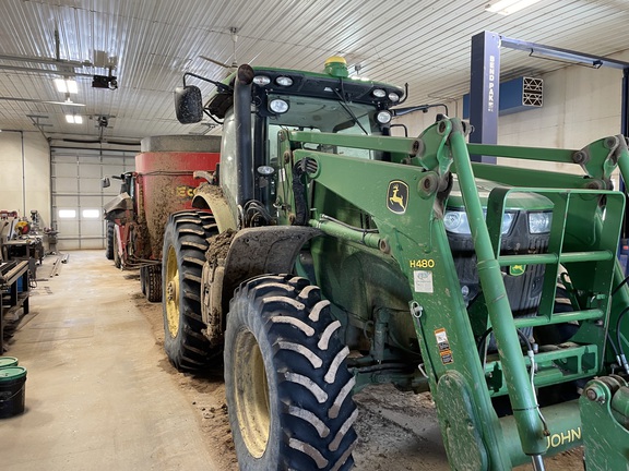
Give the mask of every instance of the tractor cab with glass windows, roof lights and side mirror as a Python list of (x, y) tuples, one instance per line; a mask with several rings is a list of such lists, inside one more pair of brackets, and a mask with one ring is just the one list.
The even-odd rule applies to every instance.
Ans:
[[(325, 73), (242, 65), (201, 105), (197, 86), (176, 90), (177, 118), (198, 122), (203, 113), (223, 124), (218, 181), (232, 214), (253, 201), (271, 210), (282, 173), (282, 131), (390, 135), (391, 107), (403, 101), (396, 86), (348, 76), (341, 57), (325, 62)], [(250, 130), (250, 132), (242, 132)], [(332, 148), (333, 147), (333, 148)], [(311, 150), (349, 154), (349, 147), (310, 145)], [(387, 153), (353, 148), (351, 155), (390, 160)], [(248, 221), (240, 220), (246, 227)]]

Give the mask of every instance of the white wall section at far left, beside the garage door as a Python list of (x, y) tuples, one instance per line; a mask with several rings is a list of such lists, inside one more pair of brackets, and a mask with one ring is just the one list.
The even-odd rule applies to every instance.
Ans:
[(0, 132), (0, 209), (36, 209), (50, 226), (50, 150), (39, 132)]

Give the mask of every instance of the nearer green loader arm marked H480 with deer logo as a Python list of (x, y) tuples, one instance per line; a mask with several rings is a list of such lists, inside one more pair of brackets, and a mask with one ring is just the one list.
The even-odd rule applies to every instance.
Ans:
[[(290, 138), (301, 137), (295, 134), (298, 133)], [(451, 450), (451, 462), (463, 464), (461, 460), (465, 457), (477, 464), (475, 469), (509, 469), (511, 459), (501, 446), (500, 424), (489, 396), (484, 388), (474, 387), (485, 384), (484, 371), (478, 357), (472, 354), (476, 346), (442, 221), (443, 189), (448, 188), (453, 161), (451, 134), (451, 121), (427, 130), (420, 136), (420, 144), (415, 146), (419, 152), (406, 156), (413, 165), (305, 149), (294, 149), (290, 162), (297, 166), (310, 160), (304, 166), (309, 169), (308, 184), (322, 185), (369, 214), (378, 234), (340, 228), (316, 207), (308, 208), (311, 226), (331, 237), (390, 254), (405, 274), (413, 293), (408, 301), (442, 430), (450, 431), (443, 433), (443, 438)], [(343, 137), (320, 138), (341, 143)], [(354, 136), (352, 141), (342, 145), (358, 147), (364, 141), (366, 146), (376, 143), (388, 152), (403, 146), (411, 152), (410, 147), (414, 147), (413, 140), (394, 137)], [(453, 404), (462, 406), (453, 408)], [(541, 424), (538, 428), (541, 447), (545, 450)], [(454, 431), (456, 437), (452, 435)], [(461, 450), (466, 452), (459, 452)]]

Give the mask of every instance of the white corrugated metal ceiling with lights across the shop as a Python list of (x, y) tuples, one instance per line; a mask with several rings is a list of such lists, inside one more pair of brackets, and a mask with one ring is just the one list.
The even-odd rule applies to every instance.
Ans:
[[(321, 70), (325, 58), (345, 56), (370, 78), (403, 85), (407, 105), (434, 102), (465, 93), (470, 39), (482, 31), (610, 56), (629, 48), (626, 0), (542, 0), (510, 16), (485, 12), (483, 0), (2, 0), (0, 4), (0, 128), (33, 130), (47, 136), (96, 138), (95, 119), (66, 123), (66, 113), (109, 117), (104, 137), (198, 132), (180, 125), (173, 89), (185, 71), (219, 80), (225, 70), (199, 56), (232, 63), (230, 27), (238, 28), (239, 63)], [(63, 101), (55, 64), (10, 57), (96, 62), (104, 53), (116, 64), (116, 90), (92, 88), (103, 67), (80, 67), (79, 94), (69, 107), (15, 99)], [(102, 51), (102, 52), (97, 52)], [(563, 67), (503, 50), (502, 76), (538, 75)], [(82, 74), (82, 75), (81, 75)], [(207, 87), (203, 87), (209, 92)], [(12, 98), (12, 99), (7, 99)], [(39, 118), (28, 118), (35, 116)], [(45, 118), (44, 118), (45, 117)]]

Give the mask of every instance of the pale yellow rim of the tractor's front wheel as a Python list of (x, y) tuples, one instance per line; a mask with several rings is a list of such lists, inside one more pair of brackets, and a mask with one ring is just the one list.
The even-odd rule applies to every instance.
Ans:
[(269, 444), (271, 412), (264, 361), (253, 334), (246, 330), (238, 335), (235, 357), (232, 373), (240, 433), (251, 456), (260, 458)]

